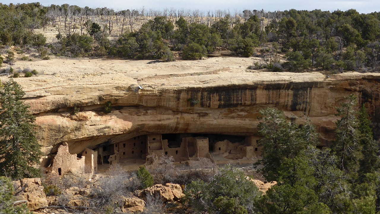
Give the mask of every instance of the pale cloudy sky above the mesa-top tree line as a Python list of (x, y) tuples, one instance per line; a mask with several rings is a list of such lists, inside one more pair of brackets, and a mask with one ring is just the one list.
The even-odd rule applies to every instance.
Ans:
[[(3, 0), (1, 3), (28, 3), (37, 1), (28, 0)], [(90, 8), (107, 7), (114, 10), (146, 9), (162, 10), (163, 8), (186, 9), (186, 10), (230, 10), (235, 11), (261, 10), (341, 10), (356, 9), (359, 13), (371, 13), (380, 11), (380, 0), (40, 0), (41, 5), (50, 6), (51, 4), (78, 5), (80, 7), (89, 6)]]

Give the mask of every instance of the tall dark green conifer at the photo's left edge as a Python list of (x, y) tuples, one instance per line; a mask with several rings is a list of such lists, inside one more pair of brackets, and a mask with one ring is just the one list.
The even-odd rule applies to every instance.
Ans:
[(21, 101), (24, 95), (13, 79), (0, 91), (0, 175), (13, 179), (38, 176), (33, 165), (40, 163), (42, 155), (33, 131), (35, 117)]

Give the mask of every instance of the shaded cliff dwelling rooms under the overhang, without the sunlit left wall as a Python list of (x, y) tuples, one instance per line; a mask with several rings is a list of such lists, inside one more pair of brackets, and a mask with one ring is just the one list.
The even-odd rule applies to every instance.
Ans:
[(173, 156), (182, 162), (210, 158), (215, 163), (249, 163), (261, 154), (259, 138), (220, 134), (147, 134), (113, 143), (110, 139), (94, 148), (98, 164), (145, 163), (148, 154)]

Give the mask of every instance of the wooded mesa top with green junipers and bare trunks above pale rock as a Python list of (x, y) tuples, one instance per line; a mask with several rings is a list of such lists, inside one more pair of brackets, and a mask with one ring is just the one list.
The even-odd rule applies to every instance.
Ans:
[(274, 71), (374, 72), (380, 60), (378, 12), (114, 11), (40, 3), (0, 4), (0, 12), (0, 62), (8, 64), (14, 51), (42, 59), (54, 54), (160, 61), (230, 51), (261, 57), (251, 69)]

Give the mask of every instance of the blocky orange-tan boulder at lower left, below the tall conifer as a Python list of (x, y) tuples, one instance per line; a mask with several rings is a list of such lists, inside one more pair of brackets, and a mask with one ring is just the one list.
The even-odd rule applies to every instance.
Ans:
[[(18, 182), (16, 183), (18, 184)], [(33, 211), (48, 205), (40, 178), (24, 178), (19, 181), (19, 185), (22, 192), (16, 198), (28, 201), (26, 205), (29, 210)]]

